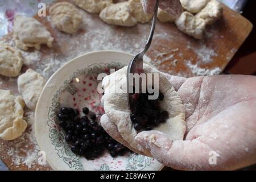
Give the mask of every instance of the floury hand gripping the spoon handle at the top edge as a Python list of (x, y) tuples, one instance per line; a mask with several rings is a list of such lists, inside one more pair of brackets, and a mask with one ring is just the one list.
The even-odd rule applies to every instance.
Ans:
[[(153, 13), (156, 0), (141, 0), (143, 9), (146, 13)], [(182, 6), (179, 0), (160, 0), (159, 8), (178, 18), (182, 13)]]

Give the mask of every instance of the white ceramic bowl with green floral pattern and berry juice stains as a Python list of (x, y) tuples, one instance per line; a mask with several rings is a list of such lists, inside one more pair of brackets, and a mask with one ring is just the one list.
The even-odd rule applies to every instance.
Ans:
[(105, 152), (100, 158), (86, 160), (73, 154), (65, 142), (64, 133), (56, 124), (60, 106), (81, 110), (89, 106), (98, 119), (104, 113), (97, 92), (100, 73), (120, 69), (127, 65), (133, 55), (117, 51), (90, 52), (76, 57), (60, 68), (47, 82), (39, 98), (35, 112), (36, 140), (46, 159), (56, 170), (160, 170), (163, 165), (143, 155), (126, 154), (112, 158)]

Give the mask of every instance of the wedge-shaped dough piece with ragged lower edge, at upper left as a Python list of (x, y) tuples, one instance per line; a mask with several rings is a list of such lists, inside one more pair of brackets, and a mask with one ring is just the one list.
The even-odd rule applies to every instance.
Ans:
[(24, 51), (29, 47), (41, 48), (41, 44), (52, 47), (53, 38), (51, 33), (35, 18), (15, 16), (14, 19), (14, 42)]

